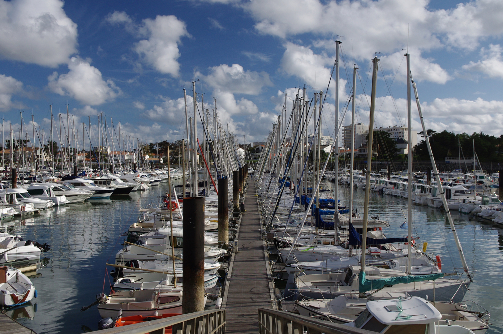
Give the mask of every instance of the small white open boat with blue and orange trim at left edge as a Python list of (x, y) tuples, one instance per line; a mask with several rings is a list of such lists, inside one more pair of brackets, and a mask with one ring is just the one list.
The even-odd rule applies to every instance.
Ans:
[(0, 295), (2, 307), (11, 307), (29, 302), (37, 297), (33, 283), (20, 270), (0, 267)]

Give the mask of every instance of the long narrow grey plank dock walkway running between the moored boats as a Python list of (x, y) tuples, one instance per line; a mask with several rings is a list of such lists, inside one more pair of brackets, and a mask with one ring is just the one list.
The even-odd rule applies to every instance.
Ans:
[(258, 333), (258, 308), (271, 308), (271, 274), (255, 195), (255, 182), (250, 180), (244, 199), (246, 211), (241, 216), (236, 238), (239, 252), (231, 261), (226, 282), (227, 299), (222, 305), (226, 308), (227, 333)]

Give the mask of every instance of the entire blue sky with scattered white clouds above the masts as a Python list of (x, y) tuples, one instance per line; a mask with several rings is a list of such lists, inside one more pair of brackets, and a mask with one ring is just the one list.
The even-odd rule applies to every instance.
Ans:
[[(336, 39), (341, 110), (356, 63), (357, 119), (368, 123), (364, 92), (380, 52), (376, 126), (404, 124), (408, 39), (428, 128), (503, 133), (500, 1), (0, 0), (0, 15), (0, 111), (15, 129), (20, 108), (30, 129), (33, 112), (47, 131), (49, 104), (57, 115), (68, 103), (80, 129), (103, 112), (130, 136), (181, 139), (182, 90), (191, 96), (195, 78), (206, 108), (217, 98), (222, 123), (261, 140), (282, 92), (290, 99), (304, 85), (309, 98), (313, 87), (326, 90)], [(330, 135), (334, 86), (332, 79), (324, 111)]]

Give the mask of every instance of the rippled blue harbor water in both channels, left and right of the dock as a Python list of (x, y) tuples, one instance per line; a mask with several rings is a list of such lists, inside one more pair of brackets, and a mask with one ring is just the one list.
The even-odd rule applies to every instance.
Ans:
[[(80, 308), (91, 304), (97, 293), (110, 292), (111, 277), (105, 264), (114, 262), (124, 239), (120, 235), (137, 220), (140, 207), (159, 203), (159, 196), (166, 190), (167, 185), (161, 184), (124, 197), (66, 205), (34, 217), (2, 221), (2, 231), (52, 245), (43, 255), (45, 265), (39, 270), (39, 277), (32, 279), (38, 298), (32, 305), (11, 313), (39, 333), (96, 330), (100, 319), (96, 306), (85, 312)], [(348, 203), (348, 197), (349, 190), (340, 188), (344, 204)], [(354, 206), (362, 214), (363, 201), (364, 192), (356, 190)], [(444, 213), (426, 206), (414, 206), (412, 212), (414, 235), (420, 236), (420, 241), (428, 241), (429, 252), (442, 257), (443, 271), (461, 268)], [(407, 214), (406, 200), (372, 193), (370, 213), (390, 222), (385, 231), (387, 237), (407, 234), (406, 228), (399, 227)], [(492, 325), (487, 333), (503, 333), (503, 229), (458, 212), (453, 212), (453, 219), (468, 265), (477, 270), (465, 299), (491, 312)]]

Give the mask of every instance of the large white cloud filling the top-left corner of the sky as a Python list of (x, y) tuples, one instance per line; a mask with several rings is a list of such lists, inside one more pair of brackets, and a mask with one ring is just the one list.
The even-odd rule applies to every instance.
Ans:
[(0, 0), (0, 56), (56, 67), (77, 52), (77, 25), (59, 0)]

